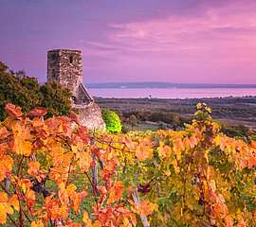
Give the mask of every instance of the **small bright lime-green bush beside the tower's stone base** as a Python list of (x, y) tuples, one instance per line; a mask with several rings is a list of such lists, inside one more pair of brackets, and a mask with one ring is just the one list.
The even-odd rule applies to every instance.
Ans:
[(103, 108), (102, 117), (106, 124), (106, 130), (110, 132), (120, 132), (121, 131), (121, 121), (119, 114), (114, 111)]

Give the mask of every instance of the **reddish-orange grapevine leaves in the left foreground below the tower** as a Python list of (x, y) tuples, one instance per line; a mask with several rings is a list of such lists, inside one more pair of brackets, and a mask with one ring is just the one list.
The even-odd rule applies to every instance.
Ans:
[[(44, 120), (46, 109), (22, 115), (12, 104), (6, 111), (9, 117), (0, 126), (0, 224), (135, 226), (136, 214), (154, 209), (149, 201), (141, 206), (128, 201), (131, 191), (119, 181), (117, 156), (91, 146), (93, 138), (75, 117)], [(92, 155), (104, 163), (101, 185), (90, 177)], [(90, 213), (81, 209), (84, 200), (91, 201)]]

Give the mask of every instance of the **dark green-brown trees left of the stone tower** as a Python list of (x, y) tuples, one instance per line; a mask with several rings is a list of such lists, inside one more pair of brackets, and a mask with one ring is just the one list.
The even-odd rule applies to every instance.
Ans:
[(21, 106), (28, 112), (37, 106), (46, 107), (49, 115), (68, 114), (71, 109), (71, 94), (56, 83), (40, 85), (35, 78), (28, 78), (25, 72), (11, 73), (0, 61), (0, 120), (6, 117), (5, 105), (9, 102)]

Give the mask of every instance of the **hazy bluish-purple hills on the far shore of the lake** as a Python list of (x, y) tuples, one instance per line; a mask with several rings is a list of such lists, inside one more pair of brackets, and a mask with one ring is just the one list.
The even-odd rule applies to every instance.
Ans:
[(249, 89), (256, 88), (256, 84), (229, 84), (229, 83), (171, 83), (171, 82), (104, 82), (87, 83), (87, 88), (106, 89), (106, 88), (177, 88), (177, 89), (196, 89), (196, 88), (237, 88)]

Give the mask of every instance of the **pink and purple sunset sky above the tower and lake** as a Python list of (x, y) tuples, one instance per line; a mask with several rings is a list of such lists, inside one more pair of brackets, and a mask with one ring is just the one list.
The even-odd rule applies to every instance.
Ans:
[(256, 83), (256, 1), (4, 1), (0, 61), (44, 81), (46, 51), (83, 52), (84, 81)]

